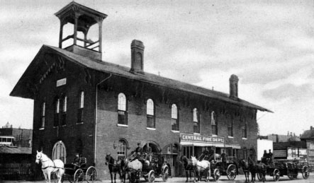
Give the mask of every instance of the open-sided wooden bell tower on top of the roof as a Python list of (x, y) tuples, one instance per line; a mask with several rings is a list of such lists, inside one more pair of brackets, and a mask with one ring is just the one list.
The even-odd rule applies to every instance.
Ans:
[[(75, 54), (80, 54), (84, 57), (91, 57), (93, 59), (101, 60), (101, 32), (103, 19), (107, 17), (106, 14), (100, 13), (99, 11), (95, 11), (94, 9), (72, 1), (70, 4), (55, 13), (55, 16), (60, 19), (60, 48), (62, 48), (62, 42), (72, 39), (72, 45), (62, 49), (66, 49), (69, 52), (74, 52)], [(74, 25), (74, 33), (73, 35), (67, 35), (67, 37), (63, 37), (63, 27), (67, 23), (72, 23)], [(91, 26), (96, 23), (99, 25), (99, 40), (93, 42), (92, 40), (87, 40), (87, 34), (89, 33), (89, 28), (91, 28)], [(82, 32), (84, 37), (77, 37), (78, 31)], [(78, 42), (82, 42), (82, 46), (79, 46)]]

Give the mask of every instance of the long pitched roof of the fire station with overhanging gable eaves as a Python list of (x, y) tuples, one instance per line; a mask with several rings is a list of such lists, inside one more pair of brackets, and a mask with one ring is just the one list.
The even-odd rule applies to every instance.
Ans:
[[(167, 88), (174, 88), (176, 90), (184, 90), (189, 93), (194, 93), (197, 95), (203, 95), (208, 98), (215, 98), (218, 100), (222, 100), (225, 102), (230, 102), (235, 105), (240, 105), (240, 106), (245, 106), (245, 107), (251, 107), (256, 110), (260, 111), (267, 111), (271, 112), (271, 110), (267, 110), (264, 107), (260, 107), (258, 105), (254, 105), (250, 102), (247, 102), (245, 100), (242, 100), (240, 98), (238, 99), (232, 99), (229, 98), (229, 94), (226, 93), (221, 93), (218, 91), (214, 90), (208, 90), (206, 88), (201, 88), (196, 85), (191, 85), (189, 83), (184, 83), (181, 81), (176, 81), (170, 78), (164, 78), (162, 76), (157, 76), (152, 73), (146, 73), (145, 74), (136, 74), (136, 73), (131, 73), (130, 68), (126, 66), (120, 66), (118, 64), (112, 64), (106, 61), (99, 61), (97, 59), (91, 59), (88, 57), (83, 57), (79, 54), (74, 54), (72, 52), (69, 52), (65, 49), (60, 49), (58, 47), (52, 47), (48, 45), (43, 45), (41, 47), (40, 51), (36, 55), (36, 57), (33, 59), (33, 61), (30, 63), (30, 66), (28, 66), (28, 69), (26, 69), (25, 73), (23, 73), (23, 76), (20, 78), (16, 86), (13, 88), (12, 92), (10, 93), (11, 96), (17, 96), (17, 97), (22, 97), (22, 98), (33, 98), (32, 95), (30, 95), (27, 92), (28, 88), (26, 87), (32, 77), (35, 77), (34, 73), (39, 73), (41, 69), (38, 64), (43, 63), (43, 61), (40, 61), (38, 59), (40, 54), (43, 54), (45, 52), (52, 52), (54, 54), (59, 54), (62, 57), (65, 57), (69, 61), (72, 61), (74, 63), (80, 64), (82, 66), (86, 66), (90, 69), (94, 69), (96, 71), (102, 71), (106, 73), (112, 73), (113, 75), (116, 76), (122, 76), (125, 78), (131, 78), (134, 80), (142, 81), (142, 82), (147, 82), (147, 83), (152, 83), (155, 85), (160, 85), (164, 86)], [(43, 73), (42, 73), (43, 74)]]

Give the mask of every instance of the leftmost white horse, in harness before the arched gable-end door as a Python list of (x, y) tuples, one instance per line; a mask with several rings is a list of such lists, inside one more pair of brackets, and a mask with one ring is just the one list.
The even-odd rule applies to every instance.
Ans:
[(50, 183), (51, 172), (55, 172), (58, 183), (61, 183), (62, 175), (65, 173), (65, 164), (62, 162), (62, 160), (52, 161), (47, 157), (47, 155), (43, 153), (43, 151), (37, 151), (35, 163), (39, 162), (42, 164), (41, 170), (43, 170), (43, 175), (45, 176), (45, 181), (47, 183)]

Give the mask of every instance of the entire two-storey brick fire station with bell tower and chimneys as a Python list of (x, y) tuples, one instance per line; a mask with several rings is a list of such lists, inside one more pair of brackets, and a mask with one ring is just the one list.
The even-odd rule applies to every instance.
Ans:
[[(130, 68), (102, 61), (105, 14), (71, 2), (55, 15), (59, 47), (43, 45), (10, 94), (34, 100), (33, 153), (43, 149), (66, 163), (81, 153), (103, 178), (106, 153), (125, 157), (138, 142), (162, 152), (174, 175), (179, 155), (198, 156), (205, 147), (236, 158), (256, 152), (257, 110), (269, 110), (237, 97), (237, 76), (226, 94), (146, 73), (139, 40), (131, 43)], [(66, 23), (74, 34), (64, 37)], [(87, 40), (96, 24), (99, 40)]]

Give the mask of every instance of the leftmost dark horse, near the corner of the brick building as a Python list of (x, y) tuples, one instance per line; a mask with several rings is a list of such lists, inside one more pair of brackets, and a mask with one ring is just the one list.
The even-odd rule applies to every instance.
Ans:
[(123, 171), (123, 168), (125, 167), (124, 165), (124, 160), (114, 160), (110, 154), (106, 155), (106, 165), (108, 165), (109, 172), (110, 172), (110, 177), (111, 177), (111, 183), (113, 183), (113, 177), (112, 175), (114, 174), (115, 177), (115, 182), (116, 182), (116, 174), (118, 173), (120, 176), (120, 180), (122, 181), (123, 179), (125, 180), (125, 173)]

